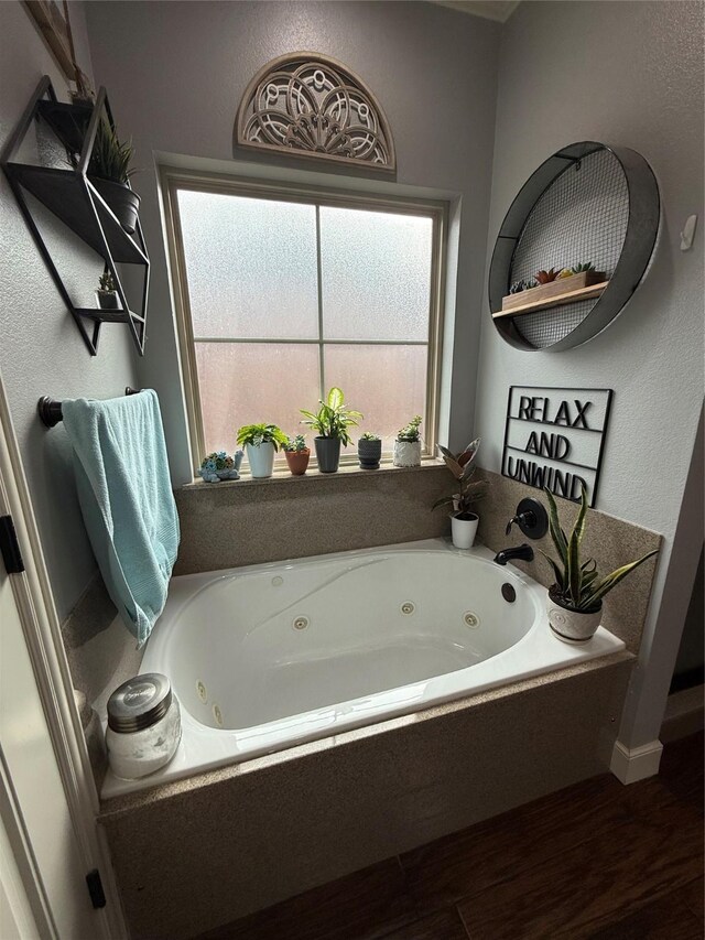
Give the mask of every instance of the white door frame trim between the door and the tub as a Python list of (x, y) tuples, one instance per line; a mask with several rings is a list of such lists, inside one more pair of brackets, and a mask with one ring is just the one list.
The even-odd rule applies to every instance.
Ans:
[[(74, 701), (61, 624), (1, 372), (0, 515), (12, 517), (24, 562), (25, 570), (9, 575), (9, 580), (74, 825), (77, 849), (86, 873), (94, 868), (100, 872), (106, 896), (105, 908), (96, 911), (96, 927), (100, 934), (94, 940), (123, 940), (128, 937), (128, 930), (120, 896), (107, 839), (97, 823), (100, 802)], [(11, 785), (11, 781), (9, 782)], [(32, 884), (25, 884), (28, 895), (37, 897), (39, 893), (39, 896), (42, 896), (44, 888), (36, 880), (31, 845), (19, 846), (17, 840), (13, 842), (15, 854), (24, 854), (24, 857), (17, 858), (18, 867), (24, 878), (32, 877), (33, 880)], [(28, 873), (33, 874), (30, 876)], [(87, 887), (85, 889), (87, 890)], [(41, 925), (37, 923), (37, 927), (41, 928)]]

